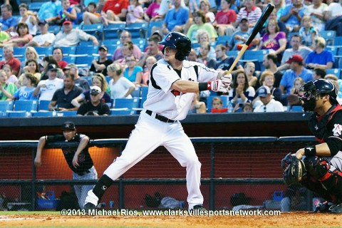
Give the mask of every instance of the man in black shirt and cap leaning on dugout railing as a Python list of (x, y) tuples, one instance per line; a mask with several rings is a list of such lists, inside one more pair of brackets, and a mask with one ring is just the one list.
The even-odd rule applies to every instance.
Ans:
[[(89, 138), (87, 135), (78, 134), (73, 122), (66, 122), (62, 125), (63, 135), (46, 135), (39, 139), (34, 165), (41, 166), (41, 152), (49, 142), (79, 142), (78, 147), (63, 147), (63, 155), (68, 166), (73, 170), (73, 180), (97, 180), (98, 173), (93, 165), (88, 152)], [(74, 185), (78, 205), (83, 209), (87, 193), (93, 185)]]

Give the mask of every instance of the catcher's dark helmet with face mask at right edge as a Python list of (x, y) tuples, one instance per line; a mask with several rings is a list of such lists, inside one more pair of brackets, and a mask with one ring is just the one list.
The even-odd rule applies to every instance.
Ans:
[(299, 100), (304, 112), (313, 112), (316, 107), (316, 100), (323, 95), (329, 95), (331, 105), (337, 104), (336, 86), (326, 79), (318, 79), (304, 83), (299, 88)]

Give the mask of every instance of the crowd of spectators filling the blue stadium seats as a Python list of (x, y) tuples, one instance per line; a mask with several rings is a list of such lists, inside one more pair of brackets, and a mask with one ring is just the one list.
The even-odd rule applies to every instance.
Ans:
[(36, 9), (6, 0), (0, 100), (47, 100), (46, 110), (78, 115), (110, 115), (123, 98), (142, 108), (167, 33), (190, 38), (190, 61), (226, 71), (268, 2), (275, 9), (234, 67), (229, 93), (198, 93), (190, 113), (283, 112), (300, 105), (306, 81), (341, 88), (342, 0), (51, 0)]

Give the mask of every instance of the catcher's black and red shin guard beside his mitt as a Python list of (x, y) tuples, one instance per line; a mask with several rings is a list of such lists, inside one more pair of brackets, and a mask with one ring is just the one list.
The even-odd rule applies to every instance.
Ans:
[[(322, 157), (310, 156), (304, 159), (309, 178), (302, 181), (310, 190), (324, 199), (336, 203), (342, 199), (342, 173)], [(321, 184), (321, 185), (319, 185)]]

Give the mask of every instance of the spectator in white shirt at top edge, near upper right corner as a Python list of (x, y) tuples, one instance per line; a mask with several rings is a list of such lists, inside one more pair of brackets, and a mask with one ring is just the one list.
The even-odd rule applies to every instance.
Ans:
[(306, 7), (304, 14), (312, 19), (312, 25), (318, 31), (324, 30), (324, 11), (326, 11), (328, 5), (323, 3), (322, 0), (313, 0), (313, 4)]

